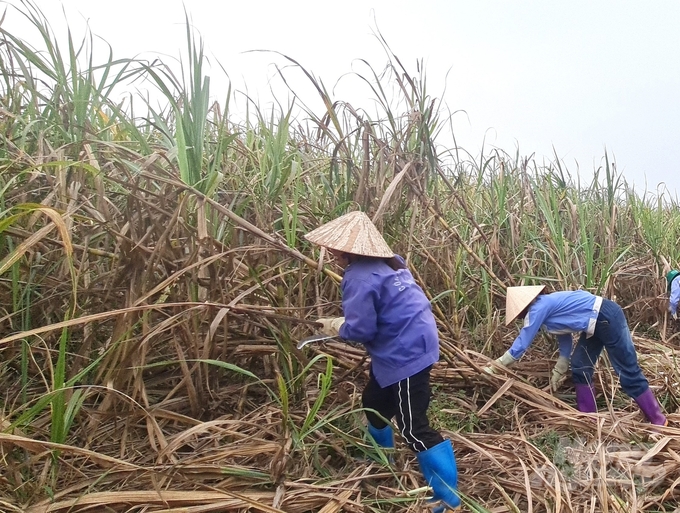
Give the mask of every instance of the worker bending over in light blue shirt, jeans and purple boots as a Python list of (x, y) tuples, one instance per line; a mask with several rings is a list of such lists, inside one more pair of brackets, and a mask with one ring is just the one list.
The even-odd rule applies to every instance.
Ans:
[[(595, 296), (585, 290), (545, 293), (544, 285), (508, 287), (505, 302), (505, 324), (515, 318), (524, 326), (508, 351), (495, 363), (511, 367), (531, 345), (539, 329), (557, 335), (559, 357), (552, 372), (550, 386), (556, 390), (569, 370), (576, 389), (579, 411), (596, 413), (593, 373), (595, 363), (607, 350), (609, 360), (619, 376), (621, 388), (640, 407), (647, 420), (659, 426), (668, 425), (647, 378), (637, 361), (637, 353), (623, 310), (614, 301)], [(580, 332), (572, 354), (572, 333)], [(485, 367), (493, 374), (493, 366)]]

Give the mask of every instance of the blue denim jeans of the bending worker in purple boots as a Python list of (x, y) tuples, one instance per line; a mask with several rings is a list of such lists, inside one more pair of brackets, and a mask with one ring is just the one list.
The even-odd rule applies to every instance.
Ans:
[(592, 383), (595, 363), (603, 348), (607, 350), (623, 391), (633, 399), (643, 394), (649, 388), (649, 382), (638, 365), (628, 322), (621, 307), (609, 299), (602, 300), (593, 336), (586, 338), (582, 333), (571, 356), (574, 383)]

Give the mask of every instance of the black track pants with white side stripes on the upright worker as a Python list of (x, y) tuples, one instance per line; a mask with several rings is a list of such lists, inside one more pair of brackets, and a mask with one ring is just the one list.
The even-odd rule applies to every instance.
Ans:
[[(401, 436), (413, 452), (423, 452), (444, 441), (442, 435), (430, 427), (427, 407), (430, 404), (430, 369), (380, 388), (371, 370), (370, 379), (361, 397), (364, 408), (371, 408), (386, 419), (396, 418)], [(375, 413), (366, 412), (371, 425), (386, 426)]]

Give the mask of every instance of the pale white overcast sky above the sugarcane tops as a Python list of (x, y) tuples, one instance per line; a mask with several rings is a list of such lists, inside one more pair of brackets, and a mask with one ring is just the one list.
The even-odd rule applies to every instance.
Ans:
[[(20, 0), (9, 0), (18, 5)], [(4, 3), (4, 2), (3, 2)], [(186, 8), (233, 87), (268, 102), (268, 81), (288, 93), (275, 50), (335, 87), (334, 99), (372, 112), (365, 87), (346, 75), (387, 64), (376, 27), (416, 74), (423, 59), (428, 92), (454, 117), (459, 145), (482, 144), (553, 160), (589, 183), (605, 149), (638, 192), (664, 183), (680, 190), (680, 2), (678, 0), (37, 0), (59, 32), (85, 20), (114, 57), (172, 58), (186, 48)], [(24, 30), (14, 12), (4, 26)], [(18, 34), (17, 32), (15, 32)], [(28, 36), (27, 36), (28, 37)], [(165, 57), (164, 57), (165, 60)], [(448, 72), (448, 78), (446, 74)], [(213, 64), (221, 103), (227, 80)], [(343, 77), (341, 79), (341, 77)], [(338, 80), (341, 79), (339, 82)], [(315, 105), (311, 90), (302, 100)], [(319, 105), (319, 104), (316, 104)], [(316, 110), (316, 109), (315, 109)], [(317, 112), (320, 111), (316, 110)]]

